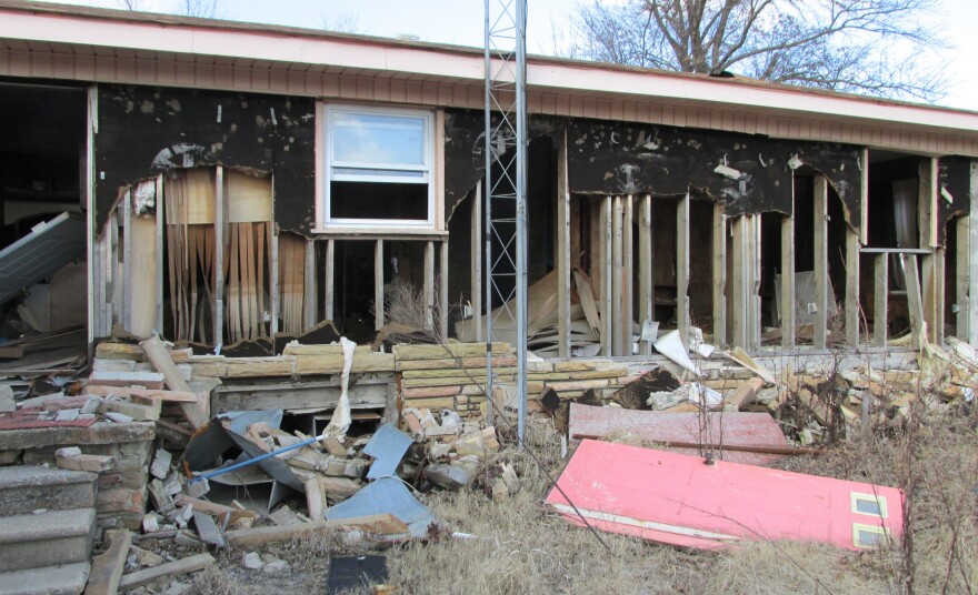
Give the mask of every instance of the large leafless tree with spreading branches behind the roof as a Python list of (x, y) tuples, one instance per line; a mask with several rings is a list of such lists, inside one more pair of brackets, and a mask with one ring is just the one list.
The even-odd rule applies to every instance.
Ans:
[(592, 60), (935, 101), (934, 0), (628, 0), (579, 4)]

